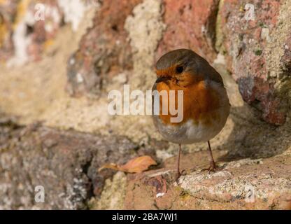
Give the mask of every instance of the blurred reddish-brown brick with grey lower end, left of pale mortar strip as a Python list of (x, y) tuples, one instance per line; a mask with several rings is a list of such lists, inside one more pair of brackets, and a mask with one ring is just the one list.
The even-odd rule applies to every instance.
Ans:
[(68, 61), (68, 91), (73, 96), (97, 94), (106, 80), (132, 69), (132, 50), (127, 41), (125, 20), (141, 0), (104, 1), (93, 26)]

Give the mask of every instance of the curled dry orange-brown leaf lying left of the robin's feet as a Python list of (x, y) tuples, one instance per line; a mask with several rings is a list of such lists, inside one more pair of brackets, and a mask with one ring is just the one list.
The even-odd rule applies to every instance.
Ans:
[(120, 170), (127, 173), (141, 173), (148, 169), (151, 165), (157, 165), (157, 162), (155, 160), (152, 160), (152, 158), (148, 155), (143, 155), (138, 158), (134, 158), (132, 160), (129, 160), (125, 165), (119, 166), (115, 165), (114, 163), (103, 165), (99, 168), (99, 172), (102, 169), (109, 168), (109, 169), (115, 169)]

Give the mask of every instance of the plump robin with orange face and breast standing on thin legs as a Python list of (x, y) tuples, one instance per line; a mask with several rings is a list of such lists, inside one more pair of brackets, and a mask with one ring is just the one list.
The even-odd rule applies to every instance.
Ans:
[[(159, 113), (152, 118), (158, 132), (167, 141), (179, 145), (177, 160), (177, 180), (180, 177), (181, 144), (207, 141), (210, 155), (208, 172), (217, 167), (213, 159), (210, 140), (225, 126), (229, 116), (229, 99), (223, 80), (206, 59), (192, 50), (178, 49), (166, 53), (155, 67), (157, 80), (152, 90), (161, 92), (183, 90), (183, 118), (178, 123), (171, 122), (174, 115), (162, 113), (162, 97), (159, 97)], [(175, 100), (177, 94), (167, 94), (168, 101)], [(153, 105), (154, 109), (155, 105)], [(155, 110), (155, 109), (154, 109)]]

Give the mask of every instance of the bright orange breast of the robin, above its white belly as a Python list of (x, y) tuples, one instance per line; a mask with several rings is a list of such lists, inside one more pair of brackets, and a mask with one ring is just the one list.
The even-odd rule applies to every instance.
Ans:
[[(220, 100), (218, 93), (211, 87), (206, 88), (206, 83), (201, 80), (192, 85), (182, 87), (176, 85), (173, 81), (166, 83), (158, 83), (157, 91), (166, 90), (169, 98), (169, 90), (175, 90), (175, 106), (178, 109), (178, 90), (183, 90), (183, 120), (180, 123), (171, 123), (171, 118), (176, 115), (162, 114), (162, 97), (159, 99), (159, 118), (164, 124), (180, 125), (192, 119), (194, 123), (204, 123), (204, 125), (211, 125), (211, 120), (215, 119), (218, 114), (215, 109), (219, 108)], [(169, 104), (168, 104), (169, 111)]]

